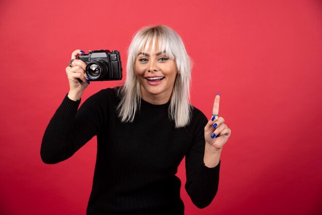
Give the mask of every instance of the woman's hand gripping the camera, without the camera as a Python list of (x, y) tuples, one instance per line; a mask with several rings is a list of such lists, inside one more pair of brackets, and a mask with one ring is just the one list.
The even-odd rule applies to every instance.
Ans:
[(66, 67), (66, 74), (69, 82), (69, 93), (68, 98), (71, 100), (79, 100), (85, 90), (85, 88), (90, 83), (86, 78), (85, 68), (86, 63), (82, 60), (78, 60), (78, 55), (83, 53), (80, 49), (77, 49), (71, 53), (71, 66)]

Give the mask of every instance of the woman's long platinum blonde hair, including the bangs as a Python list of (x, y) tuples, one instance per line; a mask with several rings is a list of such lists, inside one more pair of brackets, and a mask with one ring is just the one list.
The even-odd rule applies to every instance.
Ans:
[(174, 120), (175, 128), (189, 124), (192, 106), (190, 104), (191, 61), (181, 37), (171, 28), (158, 25), (140, 29), (133, 37), (128, 51), (127, 79), (119, 88), (121, 98), (117, 106), (118, 116), (122, 122), (133, 122), (137, 110), (140, 109), (140, 83), (135, 75), (135, 59), (140, 51), (146, 52), (149, 45), (152, 50), (157, 45), (174, 59), (177, 67), (169, 105), (169, 118)]

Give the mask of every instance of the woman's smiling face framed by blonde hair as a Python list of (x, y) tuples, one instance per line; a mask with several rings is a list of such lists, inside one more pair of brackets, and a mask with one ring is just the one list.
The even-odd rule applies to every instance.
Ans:
[(135, 59), (135, 74), (140, 82), (141, 97), (152, 104), (164, 104), (170, 99), (177, 68), (175, 61), (170, 59), (157, 46), (152, 52), (139, 52)]

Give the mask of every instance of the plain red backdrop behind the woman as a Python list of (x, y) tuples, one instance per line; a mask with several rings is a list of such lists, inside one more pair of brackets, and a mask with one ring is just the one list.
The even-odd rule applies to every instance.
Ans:
[[(142, 26), (165, 24), (194, 61), (192, 104), (232, 133), (219, 191), (186, 214), (322, 214), (322, 3), (290, 1), (16, 1), (0, 3), (0, 213), (85, 214), (96, 139), (43, 164), (40, 146), (68, 83), (74, 49), (126, 50)], [(125, 77), (125, 73), (123, 74)], [(83, 101), (120, 82), (94, 83)], [(184, 164), (177, 175), (185, 183)]]

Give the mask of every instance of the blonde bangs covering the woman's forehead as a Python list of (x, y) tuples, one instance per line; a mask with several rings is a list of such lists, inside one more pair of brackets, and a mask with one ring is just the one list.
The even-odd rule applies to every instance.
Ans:
[(174, 41), (170, 38), (171, 35), (164, 29), (151, 28), (142, 31), (137, 35), (136, 40), (134, 39), (134, 56), (136, 57), (142, 51), (147, 52), (150, 48), (152, 53), (155, 53), (158, 48), (159, 51), (165, 52), (169, 58), (175, 59), (173, 47), (177, 47), (177, 45), (173, 44)]

